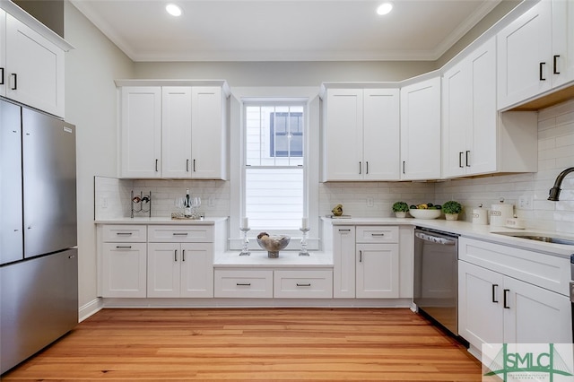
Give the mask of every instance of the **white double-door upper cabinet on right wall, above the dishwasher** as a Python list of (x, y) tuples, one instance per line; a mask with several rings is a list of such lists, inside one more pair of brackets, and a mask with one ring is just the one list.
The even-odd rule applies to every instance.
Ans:
[(496, 40), (488, 40), (442, 77), (442, 175), (495, 171)]

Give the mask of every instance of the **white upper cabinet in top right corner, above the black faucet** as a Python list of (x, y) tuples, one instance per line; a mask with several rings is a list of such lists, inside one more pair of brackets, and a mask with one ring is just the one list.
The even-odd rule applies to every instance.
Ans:
[(574, 4), (542, 0), (500, 30), (498, 109), (574, 80)]

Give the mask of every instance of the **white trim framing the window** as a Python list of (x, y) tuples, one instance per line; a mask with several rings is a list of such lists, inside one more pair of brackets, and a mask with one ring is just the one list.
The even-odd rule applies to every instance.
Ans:
[[(243, 218), (243, 168), (245, 157), (242, 155), (244, 139), (243, 100), (303, 100), (306, 102), (306, 120), (303, 144), (305, 156), (305, 182), (308, 195), (306, 214), (309, 218), (309, 250), (319, 248), (320, 222), (318, 216), (318, 179), (319, 179), (319, 88), (317, 87), (234, 87), (231, 90), (230, 108), (230, 250), (239, 250), (242, 236), (239, 231)], [(249, 247), (257, 250), (258, 232), (248, 232)], [(300, 232), (291, 234), (291, 243), (287, 249), (299, 249)]]

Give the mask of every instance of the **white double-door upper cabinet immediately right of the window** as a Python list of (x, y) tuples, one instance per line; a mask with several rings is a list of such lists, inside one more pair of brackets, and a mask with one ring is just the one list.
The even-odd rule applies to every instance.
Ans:
[(323, 181), (396, 180), (398, 89), (327, 89)]

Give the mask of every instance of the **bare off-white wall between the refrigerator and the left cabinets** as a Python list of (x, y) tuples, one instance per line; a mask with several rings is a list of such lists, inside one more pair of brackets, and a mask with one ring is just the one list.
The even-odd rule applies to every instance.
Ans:
[(74, 5), (65, 3), (65, 119), (76, 126), (80, 307), (96, 298), (93, 178), (117, 176), (116, 78), (133, 63)]

